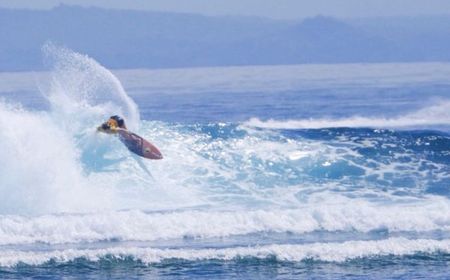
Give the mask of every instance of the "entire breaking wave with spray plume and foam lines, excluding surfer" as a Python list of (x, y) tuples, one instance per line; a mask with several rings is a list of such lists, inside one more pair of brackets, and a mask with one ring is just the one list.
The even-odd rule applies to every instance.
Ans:
[[(0, 266), (450, 251), (450, 137), (413, 129), (446, 127), (450, 103), (385, 119), (141, 121), (119, 80), (93, 59), (51, 44), (44, 52), (49, 110), (0, 102)], [(113, 114), (164, 160), (144, 161), (98, 134)], [(324, 242), (326, 234), (342, 238)], [(258, 245), (260, 235), (269, 244)], [(238, 241), (208, 246), (221, 238)]]

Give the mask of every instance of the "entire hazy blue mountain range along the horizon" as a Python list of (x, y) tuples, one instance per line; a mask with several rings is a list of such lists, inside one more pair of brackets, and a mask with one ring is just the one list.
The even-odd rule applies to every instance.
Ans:
[(46, 41), (110, 68), (450, 61), (450, 17), (303, 21), (61, 5), (0, 9), (0, 71), (43, 68)]

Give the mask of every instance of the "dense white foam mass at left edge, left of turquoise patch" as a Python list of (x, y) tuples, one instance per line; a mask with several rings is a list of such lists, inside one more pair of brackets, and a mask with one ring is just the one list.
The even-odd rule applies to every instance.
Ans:
[[(0, 126), (0, 213), (93, 206), (87, 198), (96, 191), (83, 180), (79, 152), (48, 116), (0, 104)], [(99, 203), (107, 201), (99, 196)]]

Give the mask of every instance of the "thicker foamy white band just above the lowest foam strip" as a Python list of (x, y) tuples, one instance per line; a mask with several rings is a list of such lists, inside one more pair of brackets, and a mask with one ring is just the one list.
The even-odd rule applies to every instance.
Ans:
[(0, 216), (0, 245), (48, 244), (103, 240), (156, 241), (213, 238), (257, 232), (316, 230), (391, 232), (450, 231), (450, 202), (443, 198), (396, 204), (317, 196), (296, 209), (145, 213), (139, 210), (92, 214)]

